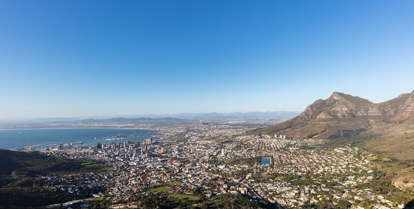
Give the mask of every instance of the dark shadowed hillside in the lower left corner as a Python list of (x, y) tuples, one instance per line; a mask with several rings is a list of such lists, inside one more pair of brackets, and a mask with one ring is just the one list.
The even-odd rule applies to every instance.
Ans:
[(37, 152), (19, 152), (0, 149), (0, 209), (36, 208), (89, 197), (66, 192), (53, 192), (42, 187), (41, 176), (99, 172), (103, 164), (88, 160), (73, 160), (43, 155)]

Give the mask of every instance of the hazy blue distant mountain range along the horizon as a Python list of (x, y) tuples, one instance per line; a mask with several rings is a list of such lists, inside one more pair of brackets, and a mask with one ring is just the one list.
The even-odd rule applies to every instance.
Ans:
[(55, 122), (77, 121), (84, 119), (290, 119), (300, 114), (300, 111), (268, 111), (268, 112), (233, 112), (233, 113), (180, 113), (180, 114), (148, 114), (148, 115), (116, 115), (116, 116), (92, 116), (76, 118), (39, 118), (39, 119), (3, 119), (1, 122)]

